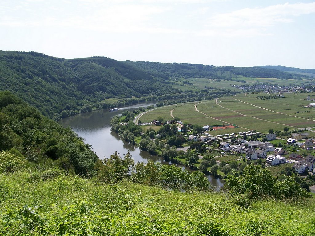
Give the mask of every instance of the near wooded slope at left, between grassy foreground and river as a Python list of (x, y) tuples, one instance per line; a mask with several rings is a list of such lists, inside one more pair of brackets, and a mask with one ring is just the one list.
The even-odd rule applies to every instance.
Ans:
[(61, 168), (88, 177), (94, 175), (98, 160), (70, 128), (64, 129), (9, 92), (0, 92), (0, 154), (0, 172)]

